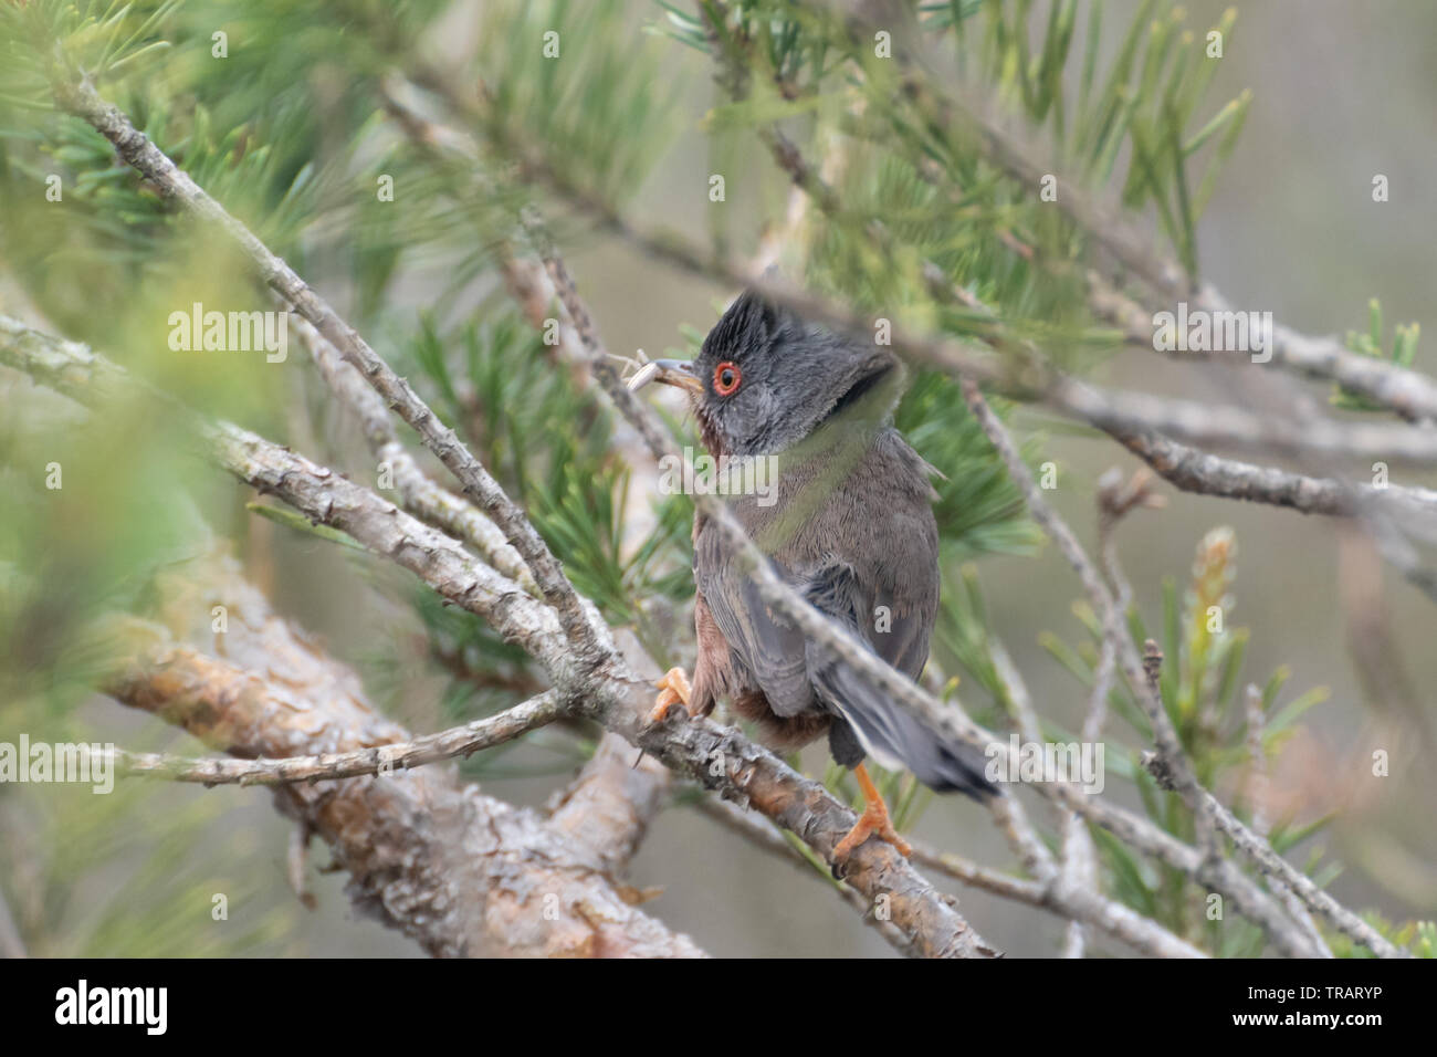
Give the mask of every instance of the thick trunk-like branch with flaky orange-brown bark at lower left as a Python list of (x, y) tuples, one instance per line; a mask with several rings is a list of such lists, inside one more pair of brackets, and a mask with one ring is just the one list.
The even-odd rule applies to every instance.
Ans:
[[(270, 613), (231, 559), (191, 565), (161, 574), (157, 588), (172, 627), (139, 630), (111, 693), (243, 758), (365, 755), (414, 741), (369, 708), (354, 673)], [(228, 616), (224, 660), (172, 637), (208, 634), (216, 600)], [(356, 906), (430, 953), (703, 953), (631, 906), (585, 850), (537, 813), (481, 795), (453, 769), (293, 782), (274, 795), (329, 844), (351, 874)]]

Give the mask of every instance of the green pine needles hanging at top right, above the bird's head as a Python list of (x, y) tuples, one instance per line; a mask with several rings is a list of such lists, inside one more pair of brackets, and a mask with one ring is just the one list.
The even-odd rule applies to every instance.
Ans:
[[(1209, 56), (1209, 33), (1219, 33), (1226, 47), (1233, 12), (1198, 36), (1184, 27), (1180, 7), (1155, 16), (1155, 6), (1138, 6), (1106, 59), (1102, 0), (1088, 4), (1082, 29), (1075, 0), (924, 3), (917, 27), (934, 37), (951, 35), (963, 88), (981, 85), (977, 109), (992, 99), (1026, 116), (1075, 183), (1101, 188), (1127, 158), (1122, 203), (1134, 211), (1151, 206), (1196, 276), (1196, 224), (1242, 131), (1250, 95), (1216, 111), (1204, 106), (1219, 65)], [(1043, 321), (1046, 344), (1059, 352), (1078, 339), (1062, 328), (1072, 331), (1081, 321), (1081, 288), (1055, 282), (1053, 270), (1035, 283), (1029, 262), (1033, 250), (1050, 262), (1076, 256), (1082, 233), (1039, 201), (1038, 187), (1016, 187), (994, 170), (931, 82), (910, 91), (904, 30), (895, 29), (891, 55), (879, 55), (869, 29), (839, 22), (823, 4), (707, 0), (701, 14), (661, 7), (654, 32), (710, 53), (727, 70), (721, 79), (733, 98), (716, 108), (710, 127), (782, 127), (798, 137), (810, 168), (828, 157), (835, 134), (845, 137), (845, 164), (859, 155), (842, 174), (844, 216), (831, 217), (831, 239), (845, 266), (881, 293), (878, 301), (924, 301), (920, 276), (931, 263), (960, 286), (977, 278), (980, 296), (1000, 319), (1020, 326)], [(861, 144), (875, 163), (855, 150)], [(750, 150), (763, 147), (750, 141)], [(905, 224), (905, 217), (921, 223)], [(875, 223), (882, 226), (877, 242)], [(966, 322), (961, 315), (944, 318), (957, 334), (971, 332), (973, 321)]]

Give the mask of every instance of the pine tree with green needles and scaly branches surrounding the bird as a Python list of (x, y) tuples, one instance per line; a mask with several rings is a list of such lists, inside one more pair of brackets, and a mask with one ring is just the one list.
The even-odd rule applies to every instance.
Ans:
[[(112, 797), (0, 790), (19, 850), (0, 873), (11, 942), (325, 949), (254, 869), (272, 847), (201, 859), (230, 792), (184, 795), (138, 772), (274, 785), (297, 820), (305, 899), (318, 834), (355, 902), (434, 953), (503, 952), (520, 932), (503, 922), (539, 906), (483, 926), (405, 918), (395, 886), (483, 903), (466, 890), (481, 867), (441, 856), (397, 877), (388, 844), (366, 854), (309, 791), (351, 784), (374, 833), (428, 856), (395, 833), (372, 791), (384, 781), (427, 782), (437, 804), (473, 781), (556, 791), (556, 811), (513, 815), (504, 840), (520, 857), (576, 841), (572, 861), (533, 866), (570, 880), (599, 848), (608, 874), (583, 882), (586, 897), (624, 907), (622, 942), (595, 939), (563, 903), (573, 933), (556, 925), (523, 952), (710, 943), (665, 926), (661, 903), (634, 906), (622, 880), (648, 818), (674, 804), (799, 861), (905, 952), (996, 942), (976, 916), (986, 939), (964, 932), (921, 870), (1052, 910), (1069, 953), (1431, 956), (1431, 922), (1325, 896), (1334, 860), (1273, 866), (1328, 821), (1270, 818), (1262, 792), (1325, 692), (1244, 667), (1262, 628), (1226, 614), (1243, 590), (1270, 588), (1256, 571), (1237, 580), (1232, 532), (1196, 534), (1193, 568), (1164, 581), (1155, 613), (1134, 601), (1115, 532), (1161, 502), (1165, 479), (1213, 496), (1214, 519), (1227, 498), (1362, 525), (1437, 598), (1408, 544), (1434, 499), (1385, 477), (1388, 453), (1437, 459), (1420, 427), (1437, 384), (1418, 372), (1415, 324), (1388, 338), (1377, 302), (1368, 334), (1344, 344), (1277, 325), (1236, 351), (1266, 352), (1277, 371), (1242, 368), (1263, 384), (1316, 377), (1354, 414), (1262, 416), (1094, 381), (1124, 348), (1157, 355), (1175, 329), (1155, 314), (1178, 302), (1216, 318), (1221, 339), (1229, 302), (1203, 279), (1198, 221), (1253, 106), (1216, 92), (1233, 12), (1190, 26), (1144, 0), (1125, 26), (1112, 17), (1101, 0), (0, 4), (0, 364), (13, 370), (0, 378), (0, 729), (129, 749)], [(678, 181), (690, 204), (668, 230), (650, 196)], [(713, 725), (641, 726), (629, 706), (651, 690), (628, 673), (694, 651), (697, 498), (658, 493), (655, 459), (698, 439), (678, 404), (624, 388), (648, 357), (605, 345), (622, 309), (586, 302), (604, 267), (589, 250), (706, 283), (714, 312), (662, 338), (673, 355), (693, 355), (741, 286), (894, 347), (908, 367), (895, 423), (937, 470), (944, 569), (924, 689), (904, 706), (979, 745), (1101, 745), (1105, 797), (1015, 785), (994, 811), (1010, 841), (997, 864), (920, 846), (894, 866), (872, 850), (839, 883), (828, 856), (856, 802), (845, 769), (821, 774), (828, 795), (793, 814), (813, 756), (780, 761)], [(1115, 440), (1157, 473), (1101, 482), (1091, 551), (1049, 496), (1073, 436)], [(1272, 465), (1293, 453), (1303, 473)], [(1374, 460), (1371, 485), (1342, 469)], [(1076, 624), (1032, 630), (1073, 677), (1062, 710), (1032, 699), (983, 590), (994, 557), (1027, 561), (1045, 541), (1079, 574)], [(226, 685), (250, 687), (266, 722), (285, 686), (302, 687), (319, 733), (216, 722), (217, 702), (236, 700)], [(415, 706), (422, 685), (437, 709)], [(96, 690), (172, 726), (124, 722), (91, 703)], [(1424, 729), (1420, 716), (1405, 722)], [(450, 728), (464, 731), (411, 732)], [(204, 752), (191, 735), (236, 759), (187, 759)], [(612, 830), (578, 813), (629, 781), (631, 742), (648, 752), (632, 771), (642, 795), (628, 790), (634, 823)], [(346, 749), (345, 771), (246, 759)], [(398, 778), (365, 777), (395, 764)], [(349, 777), (292, 784), (300, 771)], [(911, 775), (881, 787), (905, 831), (948, 810)], [(467, 847), (461, 827), (451, 837)], [(891, 897), (892, 869), (912, 871), (915, 896)], [(83, 905), (102, 874), (124, 880)], [(205, 920), (217, 893), (259, 909), (230, 929), (171, 912)]]

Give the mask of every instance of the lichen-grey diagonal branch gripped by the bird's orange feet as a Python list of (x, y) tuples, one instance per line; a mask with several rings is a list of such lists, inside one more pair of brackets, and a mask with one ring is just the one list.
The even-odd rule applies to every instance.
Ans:
[[(60, 342), (36, 331), (26, 335), (24, 341), (6, 341), (0, 331), (0, 360), (60, 378), (76, 395), (83, 395), (85, 381), (96, 372), (112, 383), (125, 378), (121, 368), (83, 345)], [(236, 426), (208, 426), (205, 436), (220, 465), (234, 476), (279, 496), (315, 522), (348, 532), (371, 551), (418, 575), (441, 597), (489, 621), (506, 640), (523, 646), (543, 666), (562, 708), (570, 715), (604, 725), (668, 768), (753, 807), (792, 830), (831, 864), (836, 861), (833, 848), (856, 815), (821, 784), (802, 778), (737, 731), (708, 720), (681, 726), (674, 720), (645, 723), (642, 718), (652, 703), (647, 679), (634, 674), (621, 657), (598, 670), (576, 664), (573, 644), (553, 610), (474, 559), (453, 538), (368, 489)], [(994, 953), (944, 896), (888, 844), (867, 843), (845, 860), (845, 880), (869, 905), (879, 896), (888, 897), (894, 925), (924, 956)]]

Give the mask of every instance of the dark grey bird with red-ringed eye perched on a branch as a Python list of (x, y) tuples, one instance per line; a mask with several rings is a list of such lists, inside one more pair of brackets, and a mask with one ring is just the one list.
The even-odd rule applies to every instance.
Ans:
[[(928, 483), (934, 470), (892, 426), (901, 375), (887, 348), (841, 338), (746, 292), (694, 362), (657, 361), (631, 385), (685, 390), (714, 459), (773, 460), (776, 488), (767, 496), (726, 499), (749, 538), (815, 607), (917, 679), (938, 613), (938, 526)], [(723, 696), (776, 749), (826, 733), (833, 759), (856, 768), (865, 800), (835, 857), (869, 834), (910, 853), (865, 755), (890, 769), (905, 767), (938, 791), (992, 791), (981, 754), (947, 743), (842, 656), (773, 613), (703, 513), (694, 522), (694, 680), (690, 686), (681, 669), (668, 672), (654, 719), (680, 700), (691, 715), (707, 715)]]

